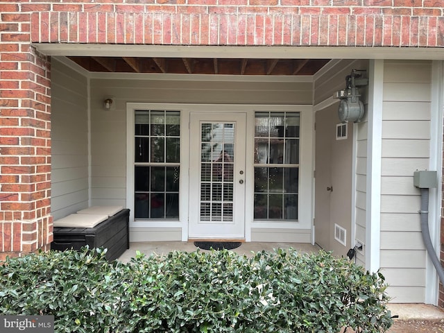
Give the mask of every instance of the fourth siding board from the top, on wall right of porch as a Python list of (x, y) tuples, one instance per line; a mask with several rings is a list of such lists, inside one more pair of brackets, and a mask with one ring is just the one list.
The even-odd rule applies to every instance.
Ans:
[(384, 121), (383, 139), (430, 139), (429, 121)]

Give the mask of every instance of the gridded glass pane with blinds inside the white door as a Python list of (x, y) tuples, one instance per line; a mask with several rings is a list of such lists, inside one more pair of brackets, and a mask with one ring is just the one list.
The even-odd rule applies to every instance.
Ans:
[(200, 221), (233, 221), (234, 123), (200, 123)]

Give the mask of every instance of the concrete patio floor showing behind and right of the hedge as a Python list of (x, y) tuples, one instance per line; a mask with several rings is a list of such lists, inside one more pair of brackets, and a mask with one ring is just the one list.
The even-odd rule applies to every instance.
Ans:
[[(252, 253), (262, 250), (273, 250), (275, 248), (295, 248), (301, 253), (313, 253), (318, 251), (318, 246), (302, 243), (267, 243), (267, 242), (248, 242), (242, 243), (239, 248), (232, 251), (240, 255), (252, 255)], [(121, 262), (128, 262), (132, 257), (135, 257), (136, 251), (151, 255), (167, 255), (173, 250), (195, 251), (197, 250), (193, 242), (182, 241), (153, 241), (146, 243), (131, 243), (130, 248), (119, 257)], [(205, 250), (203, 250), (205, 251)], [(388, 309), (391, 310), (393, 316), (399, 316), (399, 320), (429, 320), (438, 321), (444, 319), (444, 309), (428, 304), (400, 304), (390, 303)]]

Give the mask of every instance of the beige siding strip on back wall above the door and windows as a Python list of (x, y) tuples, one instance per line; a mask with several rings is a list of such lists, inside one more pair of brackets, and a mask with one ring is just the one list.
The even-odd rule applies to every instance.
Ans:
[[(156, 103), (310, 104), (312, 83), (241, 82), (217, 80), (105, 80), (93, 79), (97, 96), (93, 108), (101, 108), (103, 96)], [(125, 102), (123, 102), (125, 103)]]

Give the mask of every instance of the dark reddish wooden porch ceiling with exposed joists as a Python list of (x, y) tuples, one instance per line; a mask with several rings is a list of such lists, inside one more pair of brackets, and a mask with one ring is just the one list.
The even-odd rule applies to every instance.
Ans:
[(140, 58), (69, 56), (91, 72), (311, 76), (330, 59)]

